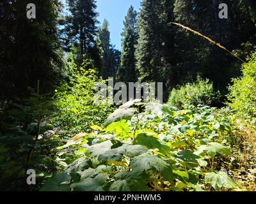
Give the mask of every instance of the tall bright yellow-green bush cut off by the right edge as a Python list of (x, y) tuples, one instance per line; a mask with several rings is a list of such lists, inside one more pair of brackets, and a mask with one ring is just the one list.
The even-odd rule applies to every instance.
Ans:
[(241, 116), (256, 116), (256, 52), (242, 66), (242, 77), (232, 80), (228, 105)]

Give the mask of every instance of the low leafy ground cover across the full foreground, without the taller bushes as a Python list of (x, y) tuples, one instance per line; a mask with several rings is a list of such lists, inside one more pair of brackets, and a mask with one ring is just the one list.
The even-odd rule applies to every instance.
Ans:
[[(38, 124), (22, 124), (13, 108), (0, 137), (1, 189), (256, 191), (255, 121), (227, 108), (139, 106), (119, 108), (79, 134), (45, 118), (36, 140)], [(32, 188), (28, 168), (36, 170)]]

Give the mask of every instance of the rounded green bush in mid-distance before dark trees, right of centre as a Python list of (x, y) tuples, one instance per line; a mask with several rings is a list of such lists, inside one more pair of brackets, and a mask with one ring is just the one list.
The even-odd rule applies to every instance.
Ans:
[(181, 108), (184, 105), (212, 106), (220, 101), (220, 92), (214, 92), (212, 82), (198, 77), (196, 82), (172, 89), (168, 103)]

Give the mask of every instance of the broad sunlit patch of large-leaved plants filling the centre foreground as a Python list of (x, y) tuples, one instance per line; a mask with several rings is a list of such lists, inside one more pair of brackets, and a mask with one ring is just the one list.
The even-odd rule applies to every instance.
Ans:
[[(225, 115), (207, 106), (154, 106), (158, 108), (147, 106), (145, 112), (106, 129), (92, 126), (93, 131), (72, 138), (85, 143), (61, 147), (56, 161), (65, 161), (63, 173), (72, 175), (63, 184), (72, 191), (239, 189), (227, 173), (218, 171), (220, 165), (228, 170), (231, 153), (224, 145), (232, 131)], [(82, 147), (83, 153), (77, 154)], [(65, 159), (71, 149), (78, 156), (74, 161)], [(51, 183), (48, 180), (43, 189)]]

